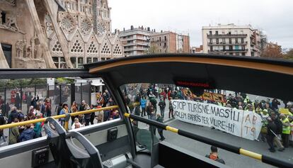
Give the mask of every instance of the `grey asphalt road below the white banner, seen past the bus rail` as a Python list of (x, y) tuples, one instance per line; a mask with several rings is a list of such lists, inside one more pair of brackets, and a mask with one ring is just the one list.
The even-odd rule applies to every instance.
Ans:
[[(188, 130), (197, 135), (202, 135), (207, 138), (212, 138), (214, 140), (226, 142), (227, 144), (242, 147), (245, 150), (250, 150), (252, 152), (257, 152), (257, 153), (268, 155), (271, 157), (276, 157), (279, 159), (283, 159), (287, 162), (293, 163), (293, 147), (286, 148), (286, 150), (283, 152), (276, 151), (275, 153), (272, 153), (272, 152), (269, 152), (268, 150), (269, 146), (266, 142), (246, 140), (244, 138), (239, 138), (234, 135), (230, 135), (228, 133), (223, 133), (222, 131), (219, 131), (219, 130), (212, 130), (207, 127), (185, 123), (183, 121), (178, 121), (176, 119), (172, 121), (168, 121), (167, 124), (174, 128)], [(139, 123), (139, 128), (148, 129), (148, 125), (144, 123)], [(186, 150), (190, 150), (191, 152), (195, 152), (202, 156), (209, 154), (210, 145), (207, 145), (205, 143), (198, 142), (195, 140), (191, 140), (189, 138), (185, 138), (183, 136), (177, 135), (175, 133), (171, 133), (169, 131), (164, 131), (163, 135), (166, 138), (166, 142), (170, 142), (173, 145), (177, 145), (178, 147), (183, 147)], [(159, 138), (158, 133), (156, 133), (156, 136)], [(237, 155), (222, 149), (219, 149), (219, 157), (224, 159), (224, 161), (226, 162), (226, 165), (228, 165), (229, 167), (237, 167), (237, 168), (272, 167), (269, 164), (264, 164), (256, 159), (251, 159), (250, 157), (246, 157), (243, 155)]]

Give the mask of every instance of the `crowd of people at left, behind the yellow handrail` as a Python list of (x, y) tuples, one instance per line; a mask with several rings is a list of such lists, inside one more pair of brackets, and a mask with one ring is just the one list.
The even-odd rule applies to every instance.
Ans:
[[(96, 94), (97, 101), (94, 105), (89, 105), (86, 101), (82, 101), (80, 105), (74, 101), (71, 106), (67, 103), (60, 103), (54, 109), (54, 114), (62, 115), (66, 113), (76, 113), (78, 111), (87, 111), (93, 108), (102, 108), (107, 106), (113, 106), (115, 103), (105, 90), (102, 93)], [(16, 104), (15, 104), (16, 105)], [(30, 121), (38, 118), (45, 118), (52, 116), (52, 100), (47, 98), (44, 101), (40, 101), (38, 96), (31, 97), (31, 101), (28, 102), (28, 111), (26, 114), (21, 110), (21, 106), (12, 106), (9, 109), (8, 118), (0, 110), (0, 125), (8, 123), (18, 123), (21, 121)], [(92, 113), (79, 114), (78, 116), (71, 116), (71, 129), (81, 128), (86, 125), (93, 125), (94, 123), (102, 123), (113, 119), (120, 118), (120, 113), (116, 109), (109, 109), (104, 111), (97, 111)], [(96, 120), (96, 122), (94, 122)], [(64, 126), (65, 119), (59, 118), (59, 123)], [(9, 128), (9, 135), (4, 135), (4, 130), (0, 130), (0, 140), (2, 145), (12, 145), (17, 142), (23, 142), (26, 140), (32, 140), (34, 138), (40, 138), (45, 135), (43, 131), (44, 122), (38, 122), (35, 124), (21, 125), (13, 128)], [(8, 140), (7, 140), (8, 137)]]

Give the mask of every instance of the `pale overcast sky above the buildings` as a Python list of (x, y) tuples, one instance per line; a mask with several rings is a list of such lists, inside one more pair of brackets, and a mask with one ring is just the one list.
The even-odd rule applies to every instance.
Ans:
[(251, 24), (268, 40), (293, 47), (292, 0), (108, 0), (112, 28), (130, 26), (190, 34), (190, 45), (202, 44), (202, 26)]

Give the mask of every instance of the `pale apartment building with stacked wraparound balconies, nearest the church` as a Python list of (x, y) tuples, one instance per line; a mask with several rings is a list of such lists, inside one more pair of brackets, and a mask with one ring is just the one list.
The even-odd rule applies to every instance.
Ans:
[(148, 52), (150, 43), (150, 36), (154, 30), (150, 28), (134, 28), (131, 26), (129, 30), (120, 31), (120, 40), (124, 47), (125, 56), (144, 55)]

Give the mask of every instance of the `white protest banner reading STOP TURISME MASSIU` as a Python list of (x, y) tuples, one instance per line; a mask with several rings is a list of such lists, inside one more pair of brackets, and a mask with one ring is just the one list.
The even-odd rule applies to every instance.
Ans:
[(255, 140), (260, 133), (262, 119), (253, 111), (241, 111), (210, 103), (172, 100), (175, 118), (180, 121), (214, 127), (226, 133)]

